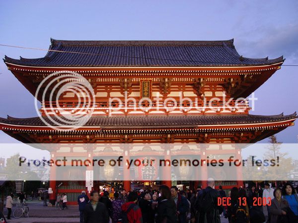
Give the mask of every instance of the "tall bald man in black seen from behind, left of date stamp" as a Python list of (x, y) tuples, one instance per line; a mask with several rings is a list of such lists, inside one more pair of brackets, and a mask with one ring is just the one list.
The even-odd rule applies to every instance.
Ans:
[(196, 199), (196, 209), (199, 212), (200, 223), (220, 223), (220, 214), (223, 212), (222, 205), (218, 204), (218, 198), (221, 197), (219, 191), (213, 189), (215, 181), (209, 178), (207, 187), (200, 190)]

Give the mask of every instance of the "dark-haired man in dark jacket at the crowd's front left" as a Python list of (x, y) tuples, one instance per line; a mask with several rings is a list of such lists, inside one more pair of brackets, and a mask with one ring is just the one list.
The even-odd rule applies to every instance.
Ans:
[(84, 208), (84, 223), (109, 223), (109, 213), (103, 203), (99, 202), (96, 190), (90, 193), (90, 202)]

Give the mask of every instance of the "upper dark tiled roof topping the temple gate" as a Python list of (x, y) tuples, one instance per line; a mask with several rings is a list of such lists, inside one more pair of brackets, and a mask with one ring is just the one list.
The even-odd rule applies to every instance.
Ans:
[[(13, 59), (4, 62), (27, 66), (252, 66), (283, 62), (275, 59), (246, 58), (227, 41), (65, 41), (51, 39), (42, 58)], [(77, 53), (70, 53), (77, 52)]]

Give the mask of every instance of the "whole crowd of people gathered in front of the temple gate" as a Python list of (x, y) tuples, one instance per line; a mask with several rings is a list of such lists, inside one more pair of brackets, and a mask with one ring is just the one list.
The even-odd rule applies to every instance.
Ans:
[[(159, 190), (94, 190), (89, 197), (82, 191), (77, 202), (80, 223), (221, 223), (221, 217), (229, 223), (298, 223), (297, 190), (290, 183), (275, 189), (269, 183), (264, 186), (233, 187), (226, 195), (222, 186), (214, 189), (210, 178), (206, 188), (196, 190), (162, 185)], [(43, 196), (46, 201), (47, 195)], [(18, 198), (23, 201), (21, 194)], [(12, 205), (10, 194), (7, 219)], [(67, 195), (57, 194), (55, 206), (67, 209)]]

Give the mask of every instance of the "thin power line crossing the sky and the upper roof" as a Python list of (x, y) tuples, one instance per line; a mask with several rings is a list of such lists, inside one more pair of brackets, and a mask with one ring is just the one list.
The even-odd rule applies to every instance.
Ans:
[[(84, 54), (84, 55), (93, 55), (93, 56), (116, 56), (116, 57), (128, 57), (128, 58), (138, 58), (138, 59), (157, 59), (157, 60), (173, 60), (173, 61), (184, 61), (184, 62), (203, 62), (203, 63), (220, 63), (214, 61), (198, 61), (198, 60), (187, 60), (187, 59), (165, 59), (165, 58), (151, 58), (151, 57), (139, 57), (139, 56), (118, 56), (118, 55), (109, 55), (109, 54), (93, 54), (93, 53), (84, 53), (84, 52), (74, 52), (74, 51), (59, 51), (59, 50), (50, 50), (50, 49), (41, 49), (41, 48), (31, 48), (31, 47), (20, 47), (20, 46), (12, 46), (0, 44), (2, 47), (13, 47), (20, 48), (26, 50), (38, 50), (38, 51), (50, 51), (50, 52), (58, 52), (58, 53), (70, 53), (70, 54)], [(282, 66), (298, 66), (296, 64), (282, 64)]]

